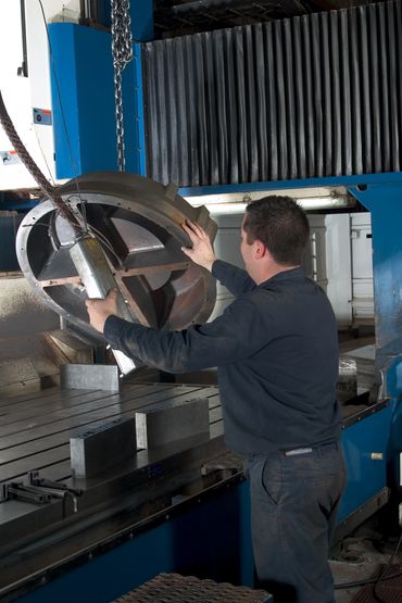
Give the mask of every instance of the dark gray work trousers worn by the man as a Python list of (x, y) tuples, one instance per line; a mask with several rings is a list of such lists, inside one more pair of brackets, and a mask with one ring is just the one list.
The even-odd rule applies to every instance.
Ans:
[(346, 486), (340, 447), (251, 455), (244, 468), (257, 586), (275, 603), (334, 603), (328, 550)]

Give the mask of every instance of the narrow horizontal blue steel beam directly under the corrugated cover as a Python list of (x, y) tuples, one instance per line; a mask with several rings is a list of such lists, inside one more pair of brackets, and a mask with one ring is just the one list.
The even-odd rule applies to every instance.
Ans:
[(364, 174), (362, 176), (331, 176), (326, 178), (306, 178), (305, 180), (269, 180), (265, 183), (243, 183), (239, 185), (216, 185), (208, 187), (181, 187), (178, 192), (183, 197), (201, 194), (225, 194), (230, 192), (252, 192), (257, 190), (282, 190), (290, 188), (315, 188), (352, 185), (369, 185), (385, 183), (402, 183), (402, 172), (391, 174)]

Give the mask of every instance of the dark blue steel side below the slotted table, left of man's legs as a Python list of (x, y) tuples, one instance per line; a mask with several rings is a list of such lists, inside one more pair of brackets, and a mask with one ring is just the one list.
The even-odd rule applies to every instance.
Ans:
[[(248, 483), (166, 517), (108, 553), (18, 599), (22, 603), (106, 603), (161, 571), (252, 586)], [(240, 553), (241, 552), (241, 553)]]

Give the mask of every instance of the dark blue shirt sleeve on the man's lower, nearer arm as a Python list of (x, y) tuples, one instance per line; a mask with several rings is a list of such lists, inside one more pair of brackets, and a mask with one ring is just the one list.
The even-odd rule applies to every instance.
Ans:
[(163, 331), (109, 316), (104, 337), (113, 349), (167, 373), (223, 366), (249, 357), (269, 340), (254, 304), (236, 300), (222, 316), (181, 331)]

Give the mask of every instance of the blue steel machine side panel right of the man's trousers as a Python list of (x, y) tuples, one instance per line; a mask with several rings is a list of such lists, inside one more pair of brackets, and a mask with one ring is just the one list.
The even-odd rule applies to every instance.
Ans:
[[(387, 486), (387, 449), (392, 407), (387, 406), (342, 431), (342, 445), (348, 466), (348, 486), (339, 508), (342, 522)], [(370, 457), (382, 453), (382, 461)]]

